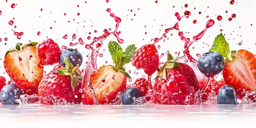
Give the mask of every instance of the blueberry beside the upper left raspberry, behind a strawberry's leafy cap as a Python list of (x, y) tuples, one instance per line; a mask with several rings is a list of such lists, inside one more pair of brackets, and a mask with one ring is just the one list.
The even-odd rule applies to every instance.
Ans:
[(65, 49), (60, 54), (60, 64), (65, 67), (64, 57), (68, 58), (73, 66), (81, 66), (83, 62), (82, 54), (74, 49)]

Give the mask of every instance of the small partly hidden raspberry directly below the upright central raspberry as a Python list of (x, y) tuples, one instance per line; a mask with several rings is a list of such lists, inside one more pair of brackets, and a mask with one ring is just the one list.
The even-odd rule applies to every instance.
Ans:
[(132, 84), (132, 87), (136, 87), (140, 90), (142, 97), (144, 97), (148, 90), (152, 89), (151, 84), (147, 81), (146, 78), (138, 78), (136, 81)]

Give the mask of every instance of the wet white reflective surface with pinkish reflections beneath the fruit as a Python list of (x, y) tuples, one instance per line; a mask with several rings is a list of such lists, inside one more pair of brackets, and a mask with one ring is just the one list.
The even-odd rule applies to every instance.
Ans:
[(4, 126), (251, 127), (255, 121), (255, 105), (0, 106)]

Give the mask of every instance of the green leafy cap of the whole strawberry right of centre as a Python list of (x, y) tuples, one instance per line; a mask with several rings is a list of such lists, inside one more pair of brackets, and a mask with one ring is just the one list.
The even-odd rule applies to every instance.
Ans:
[(180, 67), (179, 62), (175, 61), (175, 60), (178, 59), (179, 54), (180, 54), (180, 52), (178, 53), (177, 57), (175, 57), (175, 58), (173, 58), (170, 53), (167, 54), (167, 61), (164, 63), (163, 66), (158, 67), (158, 69), (157, 69), (158, 73), (157, 73), (156, 78), (161, 77), (161, 78), (167, 80), (167, 78), (166, 78), (166, 69), (172, 69), (172, 68), (175, 68), (175, 67)]

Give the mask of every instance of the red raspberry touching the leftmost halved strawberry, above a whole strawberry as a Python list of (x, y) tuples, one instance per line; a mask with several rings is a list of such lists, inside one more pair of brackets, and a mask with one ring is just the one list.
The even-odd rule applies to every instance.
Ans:
[(60, 62), (61, 50), (52, 39), (46, 39), (38, 44), (36, 54), (39, 57), (39, 65), (53, 65)]

